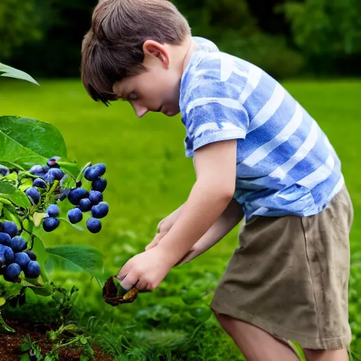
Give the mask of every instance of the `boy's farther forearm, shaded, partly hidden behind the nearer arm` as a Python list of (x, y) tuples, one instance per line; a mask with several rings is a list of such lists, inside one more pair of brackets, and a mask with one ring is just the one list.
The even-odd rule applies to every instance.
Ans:
[(242, 206), (236, 200), (231, 200), (224, 213), (221, 214), (219, 219), (217, 219), (213, 226), (209, 228), (207, 233), (195, 243), (176, 266), (189, 262), (191, 259), (194, 259), (209, 250), (209, 248), (213, 247), (219, 240), (231, 232), (232, 229), (240, 223), (243, 216), (244, 212)]

